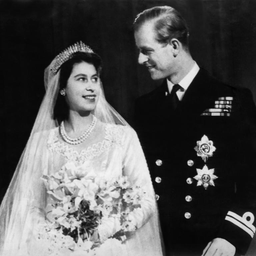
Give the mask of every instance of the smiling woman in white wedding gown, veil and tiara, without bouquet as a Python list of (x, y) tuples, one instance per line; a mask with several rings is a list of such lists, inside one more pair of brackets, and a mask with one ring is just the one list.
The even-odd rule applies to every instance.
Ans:
[[(40, 227), (57, 219), (53, 208), (55, 213), (60, 209), (56, 208), (60, 200), (54, 200), (52, 187), (44, 182), (49, 185), (53, 177), (60, 179), (63, 166), (72, 166), (73, 172), (83, 166), (99, 182), (126, 176), (131, 186), (140, 184), (146, 196), (139, 210), (130, 213), (136, 228), (125, 230), (123, 241), (114, 238), (120, 227), (104, 225), (99, 217), (87, 239), (81, 239), (81, 232), (74, 238), (65, 234), (65, 229), (62, 233), (55, 228), (62, 237), (80, 241), (82, 251), (68, 248), (64, 242), (53, 255), (162, 255), (155, 194), (145, 157), (135, 131), (105, 100), (101, 67), (100, 57), (79, 42), (56, 56), (45, 70), (46, 95), (0, 208), (0, 255), (50, 255), (50, 241), (45, 238), (49, 230), (40, 236)], [(91, 210), (92, 205), (89, 207)], [(113, 219), (110, 217), (108, 220)], [(58, 239), (54, 243), (58, 244)], [(103, 242), (92, 251), (83, 248), (86, 240)]]

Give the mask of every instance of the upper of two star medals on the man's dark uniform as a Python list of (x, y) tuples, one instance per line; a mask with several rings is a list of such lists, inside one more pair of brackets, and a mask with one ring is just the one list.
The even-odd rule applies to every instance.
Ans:
[(197, 152), (197, 156), (201, 156), (206, 163), (209, 157), (213, 155), (216, 148), (213, 146), (213, 142), (204, 135), (201, 140), (196, 142), (197, 146), (194, 148)]

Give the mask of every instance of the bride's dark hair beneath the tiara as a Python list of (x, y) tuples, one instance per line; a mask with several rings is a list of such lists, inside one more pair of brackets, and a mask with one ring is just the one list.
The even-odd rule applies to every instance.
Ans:
[[(73, 70), (74, 64), (86, 62), (92, 64), (97, 70), (98, 75), (102, 70), (102, 59), (96, 53), (76, 52), (70, 59), (64, 62), (60, 66), (60, 88), (59, 90), (66, 88), (67, 81)], [(53, 118), (57, 119), (58, 123), (68, 118), (69, 106), (64, 96), (58, 94), (56, 104), (53, 110)]]

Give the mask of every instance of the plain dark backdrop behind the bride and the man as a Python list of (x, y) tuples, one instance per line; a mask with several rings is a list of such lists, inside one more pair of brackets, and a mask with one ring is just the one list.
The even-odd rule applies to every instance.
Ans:
[(0, 0), (0, 201), (43, 98), (44, 69), (67, 46), (82, 40), (99, 53), (107, 100), (133, 124), (134, 100), (161, 81), (137, 64), (132, 22), (157, 5), (170, 5), (187, 20), (199, 66), (250, 88), (256, 100), (254, 0)]

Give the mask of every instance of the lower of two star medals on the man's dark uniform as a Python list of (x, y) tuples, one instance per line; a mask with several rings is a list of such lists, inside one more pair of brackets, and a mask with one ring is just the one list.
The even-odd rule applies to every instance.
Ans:
[(196, 169), (197, 175), (194, 177), (194, 179), (197, 180), (197, 186), (203, 185), (205, 189), (208, 188), (209, 185), (215, 186), (214, 180), (218, 177), (214, 175), (214, 169), (208, 169), (208, 167), (205, 165), (203, 169)]

